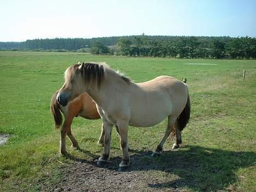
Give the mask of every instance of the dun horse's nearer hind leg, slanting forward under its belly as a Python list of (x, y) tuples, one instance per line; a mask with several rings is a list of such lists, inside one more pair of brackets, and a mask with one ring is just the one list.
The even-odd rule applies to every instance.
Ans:
[(165, 130), (165, 135), (162, 138), (161, 142), (158, 144), (158, 147), (156, 148), (155, 152), (152, 154), (153, 157), (161, 154), (162, 147), (164, 146), (166, 139), (172, 132), (173, 125), (174, 125), (176, 119), (177, 119), (176, 117), (171, 117), (171, 115), (168, 116), (168, 124), (167, 124), (166, 130)]

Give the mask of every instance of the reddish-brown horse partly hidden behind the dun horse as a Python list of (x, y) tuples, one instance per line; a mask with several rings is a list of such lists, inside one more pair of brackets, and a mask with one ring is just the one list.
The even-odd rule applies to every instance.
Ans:
[[(72, 101), (68, 102), (67, 106), (61, 106), (57, 100), (56, 96), (59, 90), (55, 92), (51, 98), (51, 113), (53, 114), (55, 129), (58, 129), (62, 124), (62, 115), (64, 115), (64, 123), (61, 127), (61, 139), (60, 139), (60, 153), (66, 154), (66, 134), (72, 142), (72, 146), (75, 149), (79, 149), (78, 142), (74, 138), (71, 132), (71, 124), (74, 117), (83, 117), (85, 119), (100, 119), (100, 115), (97, 112), (96, 104), (92, 98), (86, 93), (83, 92), (78, 97), (75, 97)], [(101, 136), (98, 139), (98, 143), (103, 146), (104, 142), (104, 129), (102, 125)]]

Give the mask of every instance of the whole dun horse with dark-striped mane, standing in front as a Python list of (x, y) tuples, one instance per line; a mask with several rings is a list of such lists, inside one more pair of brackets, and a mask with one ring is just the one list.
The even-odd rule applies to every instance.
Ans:
[(130, 166), (128, 153), (128, 126), (150, 127), (168, 117), (165, 135), (153, 156), (162, 152), (162, 147), (175, 125), (176, 142), (182, 143), (181, 131), (190, 117), (188, 88), (183, 82), (159, 76), (144, 83), (133, 83), (104, 64), (82, 63), (67, 68), (65, 83), (57, 94), (57, 101), (66, 106), (81, 92), (88, 92), (97, 103), (97, 110), (104, 126), (104, 152), (97, 165), (109, 160), (110, 135), (113, 125), (118, 127), (123, 159), (119, 170)]

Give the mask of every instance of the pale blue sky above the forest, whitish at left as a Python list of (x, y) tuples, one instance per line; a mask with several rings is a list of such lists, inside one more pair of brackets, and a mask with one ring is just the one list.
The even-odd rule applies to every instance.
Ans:
[(0, 0), (0, 42), (55, 37), (256, 37), (256, 0)]

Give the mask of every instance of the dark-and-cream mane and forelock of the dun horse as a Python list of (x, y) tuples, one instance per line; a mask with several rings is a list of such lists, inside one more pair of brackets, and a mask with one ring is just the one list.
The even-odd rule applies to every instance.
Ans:
[(123, 74), (120, 74), (117, 71), (114, 71), (111, 69), (106, 63), (78, 63), (71, 67), (68, 67), (65, 72), (65, 79), (69, 80), (69, 82), (72, 82), (72, 79), (75, 77), (75, 71), (77, 69), (80, 69), (80, 73), (82, 74), (84, 80), (86, 83), (94, 83), (97, 85), (98, 88), (100, 88), (102, 82), (106, 78), (106, 75), (109, 73), (113, 73), (118, 75), (121, 79), (123, 79), (127, 84), (130, 84), (132, 81), (131, 79), (124, 77)]

